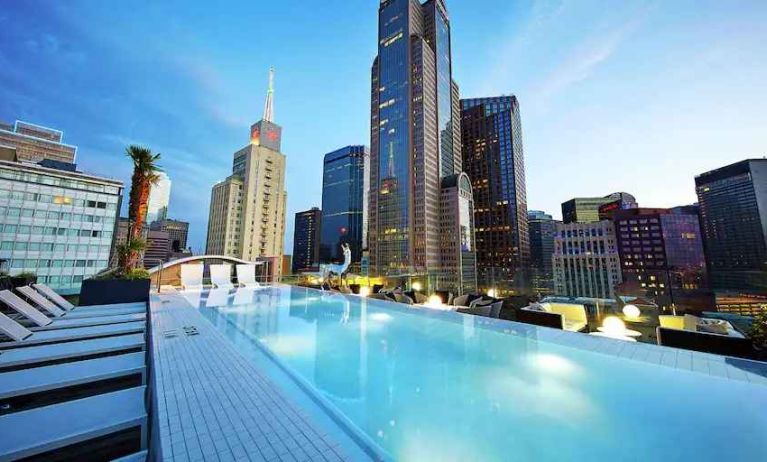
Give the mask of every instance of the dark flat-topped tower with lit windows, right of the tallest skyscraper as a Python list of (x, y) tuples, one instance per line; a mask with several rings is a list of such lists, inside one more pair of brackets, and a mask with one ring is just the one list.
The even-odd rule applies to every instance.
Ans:
[(461, 100), (461, 130), (463, 166), (474, 186), (479, 285), (523, 289), (530, 241), (517, 98)]

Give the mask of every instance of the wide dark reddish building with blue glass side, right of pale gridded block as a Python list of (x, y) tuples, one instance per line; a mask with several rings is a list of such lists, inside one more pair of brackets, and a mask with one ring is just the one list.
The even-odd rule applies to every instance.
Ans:
[(698, 207), (636, 208), (613, 214), (621, 295), (647, 297), (661, 309), (712, 310)]

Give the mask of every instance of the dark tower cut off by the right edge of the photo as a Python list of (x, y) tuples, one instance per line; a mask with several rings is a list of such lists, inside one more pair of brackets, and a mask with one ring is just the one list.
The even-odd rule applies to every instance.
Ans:
[(695, 177), (711, 284), (767, 293), (767, 159)]

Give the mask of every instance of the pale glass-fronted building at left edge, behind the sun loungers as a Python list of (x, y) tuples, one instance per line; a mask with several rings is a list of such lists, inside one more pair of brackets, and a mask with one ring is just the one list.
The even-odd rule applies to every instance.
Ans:
[(108, 266), (123, 185), (72, 164), (46, 166), (59, 164), (0, 160), (0, 259), (11, 275), (32, 272), (57, 291), (77, 292)]

